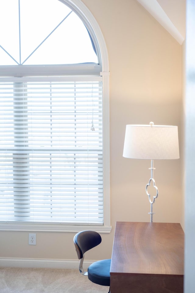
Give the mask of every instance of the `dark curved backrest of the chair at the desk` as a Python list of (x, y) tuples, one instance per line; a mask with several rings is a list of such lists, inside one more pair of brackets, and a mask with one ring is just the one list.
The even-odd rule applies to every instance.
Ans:
[(101, 236), (95, 231), (81, 231), (74, 236), (74, 245), (78, 259), (82, 259), (86, 251), (101, 243)]

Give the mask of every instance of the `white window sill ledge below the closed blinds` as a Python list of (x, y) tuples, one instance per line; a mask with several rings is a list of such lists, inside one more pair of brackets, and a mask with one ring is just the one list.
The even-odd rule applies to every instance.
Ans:
[(0, 223), (0, 231), (42, 231), (42, 232), (79, 232), (82, 230), (93, 230), (98, 233), (110, 233), (112, 226), (98, 225), (73, 225), (53, 223)]

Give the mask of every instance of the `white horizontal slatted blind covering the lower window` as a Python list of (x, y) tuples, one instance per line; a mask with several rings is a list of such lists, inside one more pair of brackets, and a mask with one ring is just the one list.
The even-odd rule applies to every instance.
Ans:
[(0, 220), (103, 224), (101, 81), (0, 83), (0, 139)]

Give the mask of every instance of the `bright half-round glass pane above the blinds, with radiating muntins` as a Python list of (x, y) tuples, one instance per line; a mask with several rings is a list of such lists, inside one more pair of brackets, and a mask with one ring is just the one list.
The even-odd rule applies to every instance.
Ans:
[(0, 65), (98, 63), (87, 28), (58, 0), (0, 2)]

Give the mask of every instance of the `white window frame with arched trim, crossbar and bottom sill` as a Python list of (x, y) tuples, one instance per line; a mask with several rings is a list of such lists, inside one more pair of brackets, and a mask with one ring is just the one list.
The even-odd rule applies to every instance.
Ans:
[[(93, 74), (94, 76), (101, 77), (103, 83), (102, 96), (103, 96), (103, 194), (104, 194), (104, 225), (95, 226), (95, 225), (78, 225), (78, 224), (51, 224), (51, 223), (29, 223), (29, 222), (7, 222), (0, 223), (1, 231), (57, 231), (57, 232), (77, 232), (80, 230), (95, 230), (100, 233), (109, 233), (112, 229), (110, 224), (110, 144), (109, 144), (109, 64), (108, 64), (108, 52), (105, 44), (105, 40), (101, 29), (95, 20), (94, 16), (90, 10), (83, 4), (80, 0), (59, 0), (65, 5), (69, 6), (77, 15), (80, 16), (83, 23), (86, 25), (96, 48), (98, 60), (100, 64), (85, 64), (83, 67), (82, 64), (70, 64), (70, 65), (59, 65), (55, 66), (56, 71), (53, 71), (52, 65), (48, 65), (44, 68), (39, 65), (35, 66), (0, 66), (1, 76), (0, 81), (18, 81), (18, 78), (23, 76), (29, 77), (30, 81), (37, 79), (34, 75), (38, 70), (41, 79), (46, 79), (48, 71), (51, 70), (52, 75), (56, 77), (59, 81), (59, 76), (63, 80), (66, 76), (66, 79), (71, 79), (71, 72), (75, 72), (78, 76), (85, 76)], [(18, 68), (20, 67), (20, 71)], [(34, 72), (34, 74), (33, 74)], [(47, 72), (47, 74), (46, 74)], [(82, 73), (81, 73), (82, 72)], [(6, 78), (5, 78), (6, 76)], [(52, 78), (54, 80), (54, 77)]]

